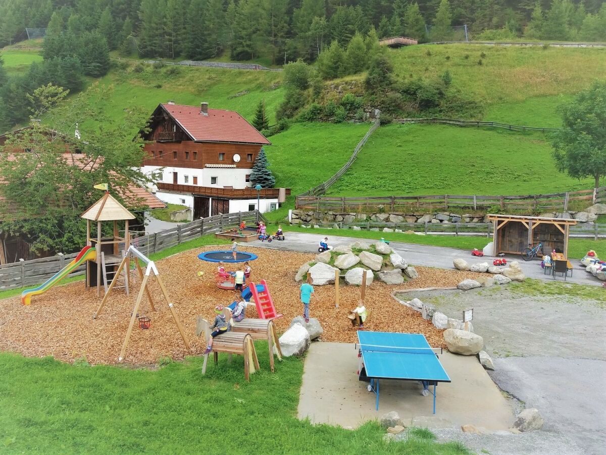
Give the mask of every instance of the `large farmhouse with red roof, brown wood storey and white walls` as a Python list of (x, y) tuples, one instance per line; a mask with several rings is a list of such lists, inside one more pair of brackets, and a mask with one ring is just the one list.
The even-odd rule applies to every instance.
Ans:
[[(284, 202), (290, 189), (263, 188), (250, 174), (262, 146), (270, 141), (231, 110), (159, 104), (150, 118), (144, 172), (162, 170), (156, 196), (193, 209), (193, 218), (259, 209)], [(259, 207), (257, 200), (259, 197)]]

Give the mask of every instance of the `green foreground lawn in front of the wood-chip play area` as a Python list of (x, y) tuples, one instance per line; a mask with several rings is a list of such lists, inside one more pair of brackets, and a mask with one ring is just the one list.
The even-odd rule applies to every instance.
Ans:
[[(382, 440), (377, 423), (355, 431), (296, 419), (303, 362), (268, 368), (245, 382), (242, 358), (219, 356), (205, 377), (201, 358), (157, 371), (59, 363), (0, 354), (3, 453), (415, 453), (467, 454), (427, 430), (402, 443)], [(165, 363), (165, 362), (161, 362)]]

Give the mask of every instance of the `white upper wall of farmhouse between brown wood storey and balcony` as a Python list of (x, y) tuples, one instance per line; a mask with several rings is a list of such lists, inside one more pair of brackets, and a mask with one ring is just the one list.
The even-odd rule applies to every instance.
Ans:
[[(145, 174), (157, 172), (159, 166), (143, 166), (142, 171)], [(191, 167), (174, 167), (167, 166), (162, 171), (161, 182), (173, 183), (173, 172), (177, 173), (177, 184), (193, 185), (193, 177), (198, 177), (198, 186), (208, 186), (213, 188), (222, 188), (224, 186), (233, 186), (234, 189), (242, 189), (250, 186), (246, 182), (246, 175), (252, 172), (252, 169), (235, 169), (221, 167), (207, 167), (205, 169), (192, 169)], [(185, 182), (185, 175), (188, 176), (188, 181)], [(215, 185), (210, 183), (211, 177), (217, 177)]]

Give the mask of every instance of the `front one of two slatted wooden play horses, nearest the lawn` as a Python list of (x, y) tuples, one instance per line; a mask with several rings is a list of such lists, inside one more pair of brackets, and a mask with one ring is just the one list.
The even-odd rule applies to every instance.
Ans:
[[(198, 317), (196, 323), (196, 334), (198, 336), (204, 334), (205, 340), (208, 343), (210, 339), (210, 325), (208, 321)], [(213, 358), (215, 365), (219, 362), (219, 352), (226, 352), (229, 355), (228, 362), (231, 363), (232, 354), (244, 356), (244, 377), (250, 381), (250, 374), (259, 369), (259, 360), (255, 351), (255, 343), (250, 334), (244, 332), (226, 332), (219, 335), (213, 340)], [(206, 365), (208, 363), (208, 354), (204, 355), (204, 363), (202, 364), (202, 374), (206, 374)]]

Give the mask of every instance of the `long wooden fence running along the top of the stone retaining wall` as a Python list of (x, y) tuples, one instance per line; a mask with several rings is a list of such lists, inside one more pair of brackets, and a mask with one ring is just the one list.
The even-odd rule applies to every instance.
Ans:
[(332, 211), (340, 213), (370, 213), (410, 211), (562, 211), (569, 209), (570, 203), (580, 202), (590, 205), (606, 201), (606, 186), (595, 189), (568, 191), (565, 193), (514, 195), (514, 196), (478, 196), (478, 195), (427, 195), (427, 196), (385, 196), (385, 197), (330, 197), (299, 195), (296, 208), (313, 211)]

